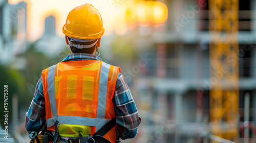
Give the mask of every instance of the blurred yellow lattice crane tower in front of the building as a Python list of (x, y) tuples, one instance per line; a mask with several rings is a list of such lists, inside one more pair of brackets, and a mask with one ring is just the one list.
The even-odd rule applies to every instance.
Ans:
[(239, 114), (238, 10), (238, 0), (209, 0), (211, 134), (235, 142)]

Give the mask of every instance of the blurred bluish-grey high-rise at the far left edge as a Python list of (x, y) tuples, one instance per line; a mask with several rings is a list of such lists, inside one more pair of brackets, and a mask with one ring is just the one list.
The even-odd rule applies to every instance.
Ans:
[(25, 67), (25, 60), (18, 59), (16, 55), (26, 50), (26, 30), (27, 4), (20, 2), (9, 5), (8, 1), (0, 1), (0, 64)]

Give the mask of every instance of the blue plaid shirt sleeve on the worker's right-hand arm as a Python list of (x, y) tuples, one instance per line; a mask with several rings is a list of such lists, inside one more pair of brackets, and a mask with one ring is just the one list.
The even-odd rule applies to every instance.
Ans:
[(116, 123), (119, 125), (120, 138), (134, 138), (137, 135), (141, 118), (130, 89), (121, 73), (118, 73), (115, 88), (113, 104), (116, 112)]

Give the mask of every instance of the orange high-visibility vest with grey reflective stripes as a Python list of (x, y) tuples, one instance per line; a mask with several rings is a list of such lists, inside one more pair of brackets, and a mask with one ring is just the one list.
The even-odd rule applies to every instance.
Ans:
[[(60, 136), (93, 135), (115, 117), (112, 98), (120, 68), (99, 60), (60, 62), (42, 71), (47, 130)], [(116, 126), (115, 126), (116, 128)], [(115, 142), (112, 128), (103, 137)]]

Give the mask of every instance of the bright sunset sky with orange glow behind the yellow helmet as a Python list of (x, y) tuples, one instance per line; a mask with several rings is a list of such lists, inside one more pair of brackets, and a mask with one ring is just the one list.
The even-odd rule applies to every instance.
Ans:
[[(9, 0), (9, 4), (17, 4), (23, 0)], [(142, 0), (24, 0), (27, 3), (26, 39), (34, 42), (45, 31), (45, 18), (54, 15), (56, 18), (56, 33), (63, 37), (62, 26), (69, 12), (84, 3), (92, 4), (101, 14), (105, 36), (112, 32), (124, 35), (127, 29), (137, 26), (158, 26), (165, 23), (168, 17), (166, 5), (160, 2)], [(104, 36), (103, 35), (103, 36)]]

